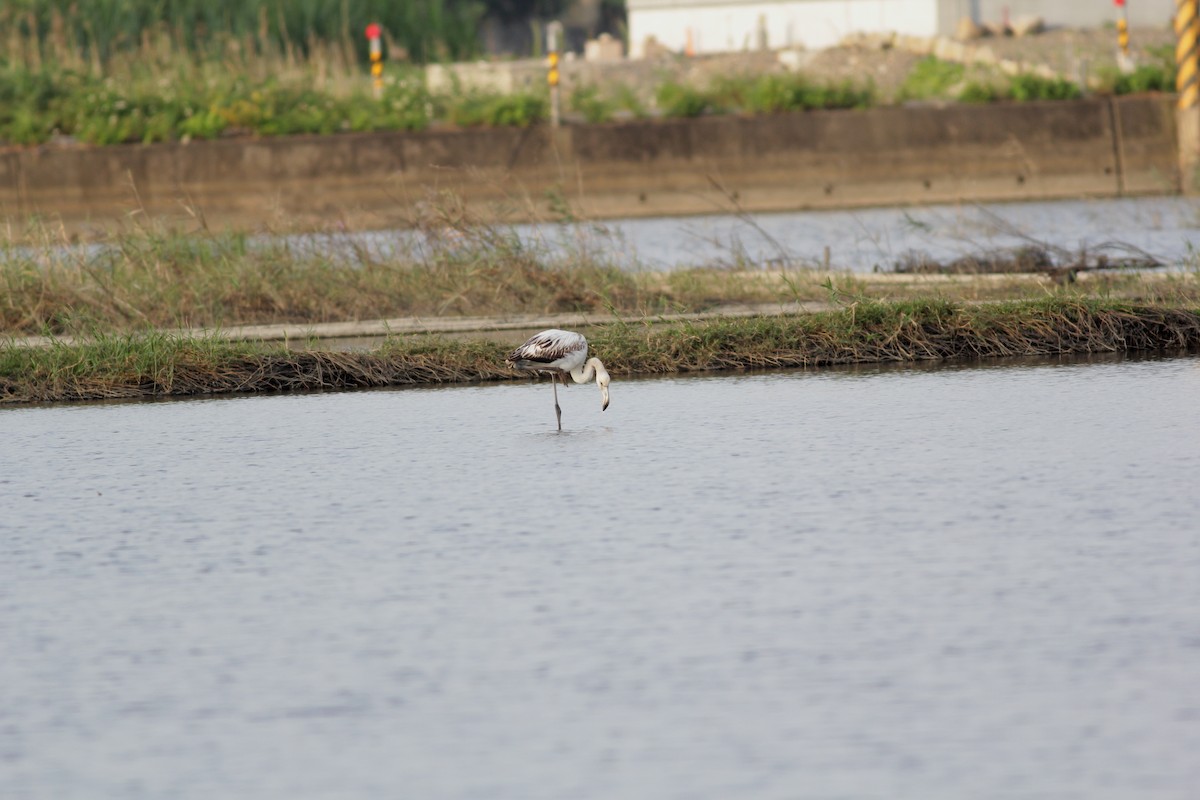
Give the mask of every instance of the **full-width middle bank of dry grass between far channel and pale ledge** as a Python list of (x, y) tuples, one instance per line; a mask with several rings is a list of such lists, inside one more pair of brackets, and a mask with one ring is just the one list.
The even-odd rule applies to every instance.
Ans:
[[(719, 306), (1120, 297), (1200, 303), (1200, 273), (1086, 271), (1070, 253), (1043, 253), (1028, 275), (830, 273), (794, 261), (764, 269), (731, 252), (720, 264), (670, 272), (618, 260), (602, 231), (569, 247), (523, 241), (512, 228), (479, 225), (448, 205), (371, 247), (354, 236), (258, 240), (245, 234), (154, 228), (68, 246), (53, 229), (34, 243), (0, 245), (0, 336), (90, 336), (240, 325), (306, 325), (397, 317), (506, 314), (653, 315)], [(980, 253), (950, 272), (1006, 271)], [(1052, 257), (1052, 258), (1051, 258)], [(960, 259), (961, 261), (962, 259)], [(1016, 267), (1024, 261), (1009, 259)], [(899, 270), (907, 261), (894, 265)], [(1120, 266), (1118, 260), (1105, 261)], [(908, 265), (912, 267), (912, 265)], [(922, 261), (912, 272), (935, 271)], [(986, 267), (986, 269), (985, 269)], [(1061, 267), (1061, 269), (1060, 269)], [(1081, 272), (1074, 281), (1075, 272)]]

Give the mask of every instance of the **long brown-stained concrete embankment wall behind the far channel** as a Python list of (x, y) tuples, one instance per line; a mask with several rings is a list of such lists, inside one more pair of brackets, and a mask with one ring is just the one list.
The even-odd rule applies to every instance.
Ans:
[(235, 228), (784, 211), (1180, 190), (1171, 98), (876, 108), (0, 154), (0, 215)]

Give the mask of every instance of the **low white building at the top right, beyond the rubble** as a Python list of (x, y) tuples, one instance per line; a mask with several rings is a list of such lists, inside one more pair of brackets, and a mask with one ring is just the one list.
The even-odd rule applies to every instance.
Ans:
[[(677, 53), (836, 44), (848, 34), (950, 36), (964, 17), (976, 23), (1042, 17), (1046, 25), (1094, 28), (1115, 22), (1112, 0), (625, 0), (630, 55), (646, 41)], [(1175, 0), (1126, 0), (1129, 25), (1169, 25)]]

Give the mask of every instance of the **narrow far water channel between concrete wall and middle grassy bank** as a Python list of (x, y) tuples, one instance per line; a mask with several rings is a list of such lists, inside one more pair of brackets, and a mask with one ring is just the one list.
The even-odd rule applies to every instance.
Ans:
[[(625, 269), (792, 264), (852, 272), (892, 271), (907, 253), (949, 261), (1030, 243), (1094, 257), (1124, 245), (1169, 269), (1196, 269), (1200, 201), (1140, 197), (1038, 203), (986, 203), (875, 207), (788, 213), (714, 213), (695, 217), (612, 219), (580, 224), (515, 225), (526, 242), (576, 258), (590, 255)], [(379, 253), (407, 247), (454, 246), (454, 236), (424, 240), (410, 231), (299, 237), (296, 246)], [(1126, 254), (1130, 254), (1126, 252)]]

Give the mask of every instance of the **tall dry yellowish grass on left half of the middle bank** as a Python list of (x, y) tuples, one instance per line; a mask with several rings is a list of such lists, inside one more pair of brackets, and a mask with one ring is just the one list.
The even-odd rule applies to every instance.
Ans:
[(376, 247), (338, 234), (252, 239), (134, 229), (89, 246), (53, 230), (0, 247), (0, 331), (221, 327), (401, 315), (662, 311), (654, 290), (594, 251), (553, 254), (457, 211)]

